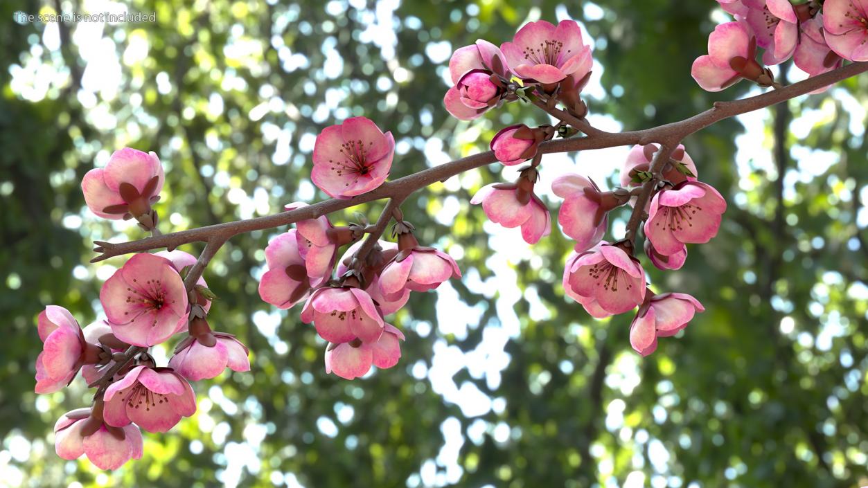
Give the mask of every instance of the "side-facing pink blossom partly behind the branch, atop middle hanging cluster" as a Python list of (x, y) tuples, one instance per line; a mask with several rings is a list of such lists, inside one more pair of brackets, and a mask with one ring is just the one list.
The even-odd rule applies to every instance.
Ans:
[[(307, 206), (301, 202), (285, 205), (286, 210)], [(318, 218), (299, 220), (295, 228), (299, 230), (299, 255), (305, 261), (307, 276), (313, 281), (332, 274), (335, 259), (338, 258), (338, 243), (335, 242), (335, 227), (325, 215)], [(349, 241), (347, 241), (349, 242)], [(343, 243), (345, 244), (345, 243)]]

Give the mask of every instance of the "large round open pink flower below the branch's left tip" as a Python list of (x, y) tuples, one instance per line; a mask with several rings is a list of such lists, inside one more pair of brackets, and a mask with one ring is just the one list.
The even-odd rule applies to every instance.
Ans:
[(129, 258), (102, 284), (100, 302), (115, 336), (135, 346), (159, 344), (187, 326), (187, 290), (165, 257)]

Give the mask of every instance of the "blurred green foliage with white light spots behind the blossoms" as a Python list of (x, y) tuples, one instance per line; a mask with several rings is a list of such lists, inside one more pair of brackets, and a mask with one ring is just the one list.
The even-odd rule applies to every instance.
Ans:
[[(81, 379), (33, 393), (36, 314), (56, 303), (82, 325), (95, 320), (100, 286), (124, 258), (89, 264), (92, 241), (142, 237), (83, 206), (82, 175), (115, 149), (160, 155), (164, 232), (325, 198), (309, 179), (313, 141), (352, 115), (395, 134), (393, 177), (417, 172), (485, 150), (506, 124), (546, 120), (516, 103), (464, 123), (441, 102), (453, 49), (509, 40), (540, 18), (587, 29), (595, 125), (651, 127), (759, 92), (708, 94), (690, 78), (726, 21), (716, 7), (3, 0), (0, 486), (868, 485), (865, 75), (685, 141), (730, 206), (683, 270), (650, 272), (657, 290), (691, 293), (707, 312), (648, 358), (629, 348), (631, 317), (597, 321), (563, 296), (559, 231), (531, 248), (468, 204), (481, 185), (515, 178), (493, 165), (404, 204), (420, 240), (456, 257), (464, 279), (414, 294), (394, 317), (407, 335), (396, 368), (326, 375), (325, 343), (299, 309), (260, 301), (262, 250), (282, 229), (233, 238), (205, 273), (220, 296), (211, 322), (250, 346), (253, 370), (196, 383), (198, 412), (146, 434), (144, 459), (118, 472), (58, 459), (52, 426), (89, 394)], [(155, 12), (156, 22), (16, 23), (15, 10)], [(611, 187), (627, 149), (543, 159), (550, 208), (552, 179), (576, 171)], [(381, 207), (352, 211), (373, 219)]]

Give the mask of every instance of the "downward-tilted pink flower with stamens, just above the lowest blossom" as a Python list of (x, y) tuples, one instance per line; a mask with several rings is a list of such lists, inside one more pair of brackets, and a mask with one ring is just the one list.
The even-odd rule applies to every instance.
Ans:
[(135, 422), (148, 432), (168, 432), (181, 417), (196, 412), (193, 388), (172, 368), (136, 366), (105, 393), (105, 417), (109, 426)]

